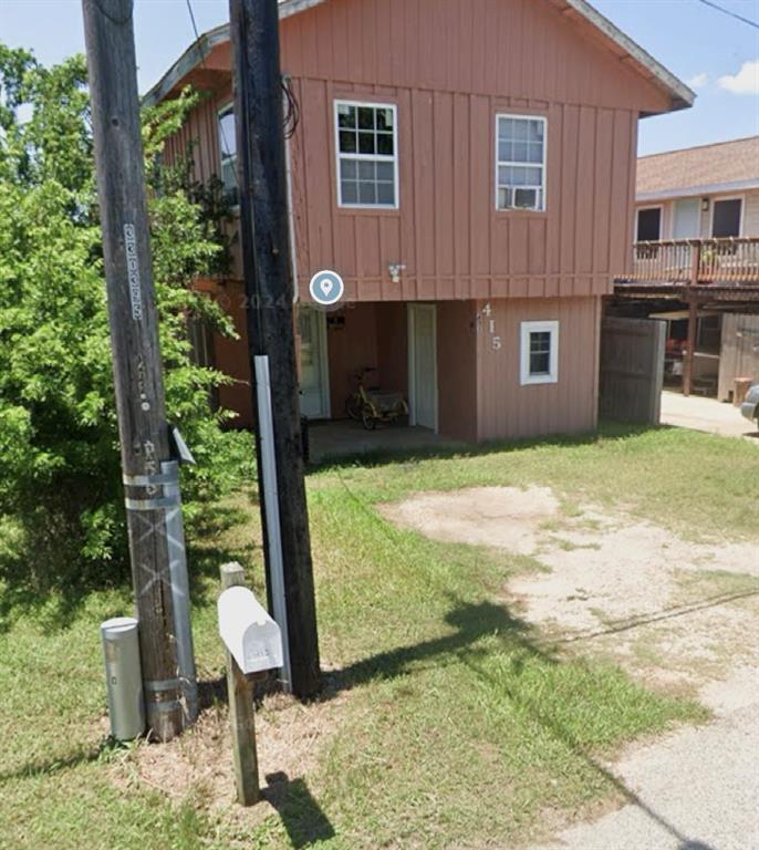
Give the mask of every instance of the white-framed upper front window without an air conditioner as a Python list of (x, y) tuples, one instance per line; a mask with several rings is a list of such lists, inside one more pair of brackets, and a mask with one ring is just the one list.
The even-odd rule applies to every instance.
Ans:
[(335, 102), (341, 207), (398, 206), (396, 107)]

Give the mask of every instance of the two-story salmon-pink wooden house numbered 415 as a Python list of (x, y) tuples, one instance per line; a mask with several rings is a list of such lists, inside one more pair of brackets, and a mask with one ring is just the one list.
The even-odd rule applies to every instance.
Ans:
[[(694, 95), (583, 0), (283, 0), (302, 406), (343, 416), (355, 373), (464, 439), (591, 431), (601, 299), (628, 268), (638, 118)], [(229, 30), (147, 95), (210, 94), (167, 143), (233, 187)], [(226, 127), (226, 132), (220, 131)], [(313, 309), (334, 269), (344, 308)], [(215, 281), (241, 340), (239, 261)], [(245, 383), (220, 402), (251, 421)]]

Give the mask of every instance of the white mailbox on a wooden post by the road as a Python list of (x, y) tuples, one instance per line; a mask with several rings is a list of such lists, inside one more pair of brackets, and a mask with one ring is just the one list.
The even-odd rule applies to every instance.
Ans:
[(219, 597), (219, 634), (243, 673), (282, 666), (282, 634), (248, 588)]

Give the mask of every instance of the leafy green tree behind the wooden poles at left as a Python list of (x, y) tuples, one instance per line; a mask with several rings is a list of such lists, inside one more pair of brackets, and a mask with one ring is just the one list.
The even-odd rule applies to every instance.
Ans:
[[(194, 363), (188, 336), (189, 320), (232, 333), (189, 286), (227, 262), (218, 187), (193, 184), (189, 160), (160, 164), (195, 99), (144, 115), (167, 412), (198, 462), (183, 473), (190, 531), (249, 455), (209, 404), (226, 379)], [(128, 571), (86, 65), (76, 56), (45, 69), (2, 44), (0, 571), (37, 592)]]

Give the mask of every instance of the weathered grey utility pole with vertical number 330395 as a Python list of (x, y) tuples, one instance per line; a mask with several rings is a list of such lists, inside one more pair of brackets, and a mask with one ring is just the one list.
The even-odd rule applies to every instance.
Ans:
[[(168, 740), (188, 718), (178, 663), (183, 629), (175, 622), (175, 608), (186, 609), (188, 600), (173, 598), (178, 558), (186, 568), (164, 408), (132, 10), (133, 0), (83, 0), (146, 717), (152, 734)], [(194, 670), (191, 678), (194, 687)]]

